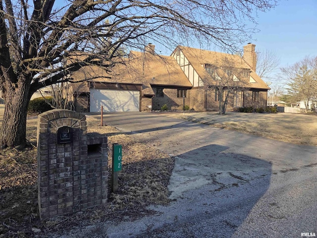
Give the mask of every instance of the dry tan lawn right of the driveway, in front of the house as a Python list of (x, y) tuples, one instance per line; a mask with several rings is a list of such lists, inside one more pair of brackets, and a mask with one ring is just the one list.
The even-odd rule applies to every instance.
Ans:
[(168, 117), (208, 124), (285, 142), (317, 146), (317, 116), (303, 114), (216, 112), (166, 114)]

